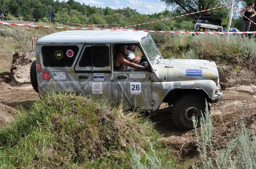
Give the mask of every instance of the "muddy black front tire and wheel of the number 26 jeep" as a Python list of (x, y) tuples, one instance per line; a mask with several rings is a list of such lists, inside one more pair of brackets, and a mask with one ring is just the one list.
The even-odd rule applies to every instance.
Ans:
[(199, 119), (205, 111), (205, 99), (198, 95), (185, 95), (175, 101), (172, 107), (172, 121), (179, 130), (192, 130), (192, 116)]

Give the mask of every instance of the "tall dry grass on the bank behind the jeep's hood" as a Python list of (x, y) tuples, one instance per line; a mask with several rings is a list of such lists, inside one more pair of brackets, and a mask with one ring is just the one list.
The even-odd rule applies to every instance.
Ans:
[(240, 35), (165, 34), (152, 35), (164, 58), (208, 59), (243, 67), (256, 59), (255, 38)]

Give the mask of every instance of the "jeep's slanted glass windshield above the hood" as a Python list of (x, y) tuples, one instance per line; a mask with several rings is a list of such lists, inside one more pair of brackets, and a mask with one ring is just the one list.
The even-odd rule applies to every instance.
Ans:
[(153, 64), (158, 63), (159, 59), (162, 59), (162, 56), (160, 52), (158, 51), (158, 48), (156, 44), (154, 43), (151, 36), (147, 36), (141, 41), (141, 45), (143, 50), (145, 51), (146, 56), (148, 57), (148, 60)]

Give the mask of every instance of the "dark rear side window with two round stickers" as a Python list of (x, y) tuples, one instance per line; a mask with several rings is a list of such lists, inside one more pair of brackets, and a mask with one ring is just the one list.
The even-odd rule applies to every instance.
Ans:
[(43, 46), (44, 66), (71, 67), (78, 51), (78, 46)]

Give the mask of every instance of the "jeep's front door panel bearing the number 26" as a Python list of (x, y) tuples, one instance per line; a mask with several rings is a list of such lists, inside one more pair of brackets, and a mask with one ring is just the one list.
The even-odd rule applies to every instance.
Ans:
[[(116, 53), (116, 52), (114, 52)], [(114, 56), (113, 56), (114, 59)], [(114, 66), (113, 66), (114, 67)], [(121, 90), (122, 101), (128, 101), (129, 108), (141, 108), (152, 110), (152, 73), (143, 69), (135, 70), (113, 70), (113, 96), (116, 90)], [(115, 85), (115, 84), (118, 84)], [(114, 87), (113, 87), (114, 86)], [(115, 101), (115, 98), (113, 97)]]

